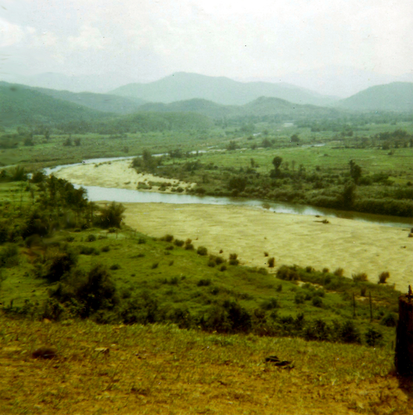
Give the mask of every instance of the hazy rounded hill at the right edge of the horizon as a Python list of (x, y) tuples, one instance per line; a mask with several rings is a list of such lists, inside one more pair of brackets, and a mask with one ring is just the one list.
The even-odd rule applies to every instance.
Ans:
[(336, 107), (353, 111), (398, 111), (413, 112), (413, 83), (392, 82), (392, 84), (371, 86), (345, 100)]

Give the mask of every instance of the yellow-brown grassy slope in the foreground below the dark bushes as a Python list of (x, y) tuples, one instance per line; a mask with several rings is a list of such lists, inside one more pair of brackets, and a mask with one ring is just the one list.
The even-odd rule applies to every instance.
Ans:
[[(176, 326), (0, 317), (1, 414), (410, 414), (393, 352)], [(30, 356), (55, 347), (51, 360)], [(292, 369), (265, 362), (268, 356)]]

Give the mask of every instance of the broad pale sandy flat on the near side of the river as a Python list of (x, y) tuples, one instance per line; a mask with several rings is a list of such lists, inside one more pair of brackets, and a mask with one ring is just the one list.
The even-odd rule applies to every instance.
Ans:
[(391, 228), (329, 218), (328, 224), (314, 216), (279, 214), (259, 208), (230, 205), (167, 205), (126, 203), (125, 223), (154, 237), (169, 233), (191, 238), (223, 256), (236, 252), (241, 262), (266, 266), (264, 252), (282, 264), (341, 267), (345, 276), (364, 272), (371, 282), (389, 271), (389, 284), (405, 290), (413, 285), (413, 238), (408, 228)]

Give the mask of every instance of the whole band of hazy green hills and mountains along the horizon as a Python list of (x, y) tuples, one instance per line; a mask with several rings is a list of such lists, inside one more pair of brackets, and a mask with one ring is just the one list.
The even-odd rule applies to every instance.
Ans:
[(286, 119), (334, 118), (342, 111), (412, 113), (413, 83), (372, 86), (338, 100), (288, 84), (243, 83), (192, 73), (176, 73), (148, 84), (128, 84), (111, 94), (73, 93), (0, 82), (0, 122), (5, 126), (85, 121), (144, 111), (194, 112), (210, 118), (268, 115)]

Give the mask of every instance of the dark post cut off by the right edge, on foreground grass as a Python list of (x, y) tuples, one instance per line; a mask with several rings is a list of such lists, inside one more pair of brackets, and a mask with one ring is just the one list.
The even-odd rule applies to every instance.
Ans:
[(413, 293), (398, 297), (398, 323), (394, 364), (400, 376), (413, 376)]

